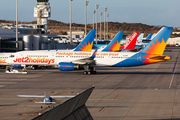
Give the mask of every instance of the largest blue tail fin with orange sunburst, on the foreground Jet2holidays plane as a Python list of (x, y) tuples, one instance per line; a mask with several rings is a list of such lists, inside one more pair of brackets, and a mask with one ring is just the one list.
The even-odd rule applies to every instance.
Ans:
[(143, 48), (140, 53), (146, 53), (148, 55), (162, 55), (168, 39), (171, 35), (173, 27), (163, 27), (157, 33), (157, 35), (151, 40), (151, 42)]

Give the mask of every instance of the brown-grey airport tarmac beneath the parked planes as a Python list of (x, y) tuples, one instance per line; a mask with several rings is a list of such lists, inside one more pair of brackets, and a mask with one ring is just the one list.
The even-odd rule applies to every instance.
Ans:
[[(16, 95), (76, 95), (95, 85), (88, 99), (94, 120), (180, 120), (179, 47), (168, 48), (169, 61), (128, 68), (98, 68), (96, 75), (58, 69), (5, 74), (0, 69), (0, 119), (30, 120), (53, 105)], [(66, 98), (56, 99), (62, 103)], [(41, 108), (42, 106), (42, 108)]]

